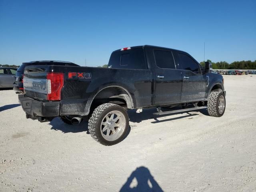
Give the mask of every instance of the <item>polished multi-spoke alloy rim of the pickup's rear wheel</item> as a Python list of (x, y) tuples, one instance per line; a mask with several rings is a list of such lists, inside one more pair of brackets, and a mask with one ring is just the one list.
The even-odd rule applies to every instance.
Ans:
[(124, 133), (126, 120), (120, 111), (110, 111), (104, 116), (100, 125), (100, 132), (104, 139), (114, 141)]

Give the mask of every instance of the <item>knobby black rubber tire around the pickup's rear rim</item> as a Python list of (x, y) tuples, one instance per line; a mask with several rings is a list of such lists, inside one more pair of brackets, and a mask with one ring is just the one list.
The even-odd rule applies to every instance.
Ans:
[[(101, 122), (104, 119), (104, 117), (112, 111), (121, 112), (124, 115), (126, 124), (125, 124), (125, 128), (124, 128), (122, 135), (119, 138), (117, 138), (116, 140), (109, 141), (109, 140), (106, 140), (102, 136)], [(89, 130), (92, 138), (94, 140), (96, 140), (97, 142), (99, 142), (100, 144), (106, 145), (106, 146), (114, 145), (114, 144), (121, 142), (126, 137), (126, 134), (128, 133), (128, 128), (129, 128), (129, 117), (128, 117), (126, 110), (123, 107), (121, 107), (117, 104), (113, 104), (113, 103), (104, 103), (104, 104), (98, 106), (93, 111), (92, 116), (90, 117), (89, 122), (88, 122), (88, 130)]]

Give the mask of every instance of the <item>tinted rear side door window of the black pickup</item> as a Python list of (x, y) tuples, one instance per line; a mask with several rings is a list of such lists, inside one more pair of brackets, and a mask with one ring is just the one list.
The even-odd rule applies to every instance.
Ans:
[(154, 50), (156, 65), (159, 68), (175, 69), (172, 52), (164, 50)]

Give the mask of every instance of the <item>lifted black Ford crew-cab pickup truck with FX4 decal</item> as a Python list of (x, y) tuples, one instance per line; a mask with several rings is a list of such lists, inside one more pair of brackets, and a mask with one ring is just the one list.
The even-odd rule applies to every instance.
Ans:
[[(68, 124), (88, 119), (92, 138), (113, 145), (128, 133), (129, 109), (157, 108), (154, 115), (163, 115), (207, 108), (210, 116), (222, 116), (224, 79), (210, 67), (180, 50), (127, 47), (112, 52), (108, 68), (26, 66), (25, 94), (18, 97), (26, 118), (60, 117)], [(173, 106), (181, 109), (161, 110)]]

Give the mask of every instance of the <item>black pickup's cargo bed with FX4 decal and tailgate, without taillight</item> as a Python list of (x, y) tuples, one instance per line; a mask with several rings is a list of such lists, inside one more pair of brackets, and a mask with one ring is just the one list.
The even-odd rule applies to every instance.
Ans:
[(47, 73), (63, 73), (60, 115), (88, 115), (94, 96), (102, 88), (120, 86), (133, 99), (130, 108), (152, 104), (152, 81), (150, 70), (109, 69), (80, 66), (28, 66), (24, 72), (26, 96), (38, 101), (47, 100)]

